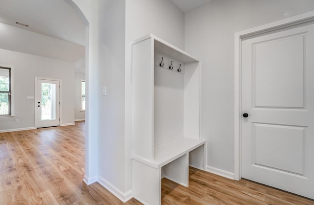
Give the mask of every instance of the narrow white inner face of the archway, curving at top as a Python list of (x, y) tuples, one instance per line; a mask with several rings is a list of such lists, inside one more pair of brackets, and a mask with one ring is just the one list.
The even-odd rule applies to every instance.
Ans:
[(65, 0), (85, 24), (85, 175), (89, 185), (97, 181), (97, 5), (92, 0)]

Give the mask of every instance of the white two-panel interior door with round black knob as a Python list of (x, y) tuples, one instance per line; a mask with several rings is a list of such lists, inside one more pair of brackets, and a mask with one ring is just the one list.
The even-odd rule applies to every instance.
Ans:
[(241, 177), (314, 199), (314, 25), (241, 45)]

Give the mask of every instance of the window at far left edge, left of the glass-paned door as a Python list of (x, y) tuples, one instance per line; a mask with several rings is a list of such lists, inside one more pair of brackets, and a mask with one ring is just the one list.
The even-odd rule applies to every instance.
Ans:
[(11, 115), (11, 68), (0, 67), (0, 116)]

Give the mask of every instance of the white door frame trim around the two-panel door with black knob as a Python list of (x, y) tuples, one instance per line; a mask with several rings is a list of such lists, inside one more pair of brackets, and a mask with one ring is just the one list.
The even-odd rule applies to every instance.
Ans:
[(242, 39), (257, 34), (314, 21), (314, 11), (267, 23), (235, 33), (235, 119), (234, 119), (234, 180), (241, 179), (241, 44)]

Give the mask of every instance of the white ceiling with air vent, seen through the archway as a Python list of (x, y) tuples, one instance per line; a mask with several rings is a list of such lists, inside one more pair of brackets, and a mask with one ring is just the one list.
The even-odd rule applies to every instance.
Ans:
[(0, 22), (85, 45), (85, 24), (65, 0), (1, 0)]

